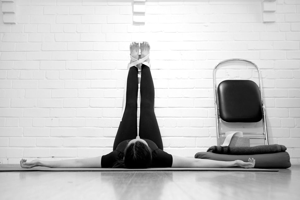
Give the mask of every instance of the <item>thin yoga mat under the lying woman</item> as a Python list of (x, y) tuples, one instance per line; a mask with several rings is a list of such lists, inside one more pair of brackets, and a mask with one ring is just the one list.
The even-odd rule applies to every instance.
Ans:
[(278, 172), (274, 169), (258, 168), (147, 168), (147, 169), (127, 169), (127, 168), (21, 168), (20, 166), (0, 166), (0, 172), (14, 171), (252, 171), (252, 172)]

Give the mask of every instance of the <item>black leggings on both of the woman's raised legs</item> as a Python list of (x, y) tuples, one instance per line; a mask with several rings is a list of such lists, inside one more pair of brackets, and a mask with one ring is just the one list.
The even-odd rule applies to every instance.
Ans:
[[(154, 113), (154, 84), (150, 68), (142, 65), (141, 75), (141, 113), (139, 124), (139, 136), (141, 139), (152, 140), (158, 148), (163, 150), (162, 136), (160, 134), (156, 116)], [(127, 77), (126, 105), (122, 122), (120, 122), (116, 138), (115, 150), (124, 140), (135, 139), (138, 134), (137, 110), (138, 110), (138, 68), (131, 67)]]

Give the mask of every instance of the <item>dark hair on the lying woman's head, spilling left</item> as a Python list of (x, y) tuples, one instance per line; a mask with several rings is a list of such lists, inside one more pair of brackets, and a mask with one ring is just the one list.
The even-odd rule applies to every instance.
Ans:
[(113, 168), (148, 168), (152, 161), (152, 151), (145, 143), (136, 141), (127, 144), (124, 159), (114, 163)]

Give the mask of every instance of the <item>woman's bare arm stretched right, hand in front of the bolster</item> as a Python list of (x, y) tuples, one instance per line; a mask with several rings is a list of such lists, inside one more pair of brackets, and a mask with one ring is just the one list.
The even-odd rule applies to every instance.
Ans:
[(240, 167), (240, 168), (254, 168), (255, 160), (248, 159), (248, 162), (243, 162), (241, 160), (235, 161), (217, 161), (201, 158), (185, 158), (179, 156), (173, 156), (172, 168), (230, 168), (230, 167)]

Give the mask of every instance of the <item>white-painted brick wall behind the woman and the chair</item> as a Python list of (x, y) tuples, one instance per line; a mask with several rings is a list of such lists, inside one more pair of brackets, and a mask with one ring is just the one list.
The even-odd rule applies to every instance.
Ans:
[[(193, 157), (216, 144), (212, 69), (243, 58), (262, 71), (270, 144), (300, 164), (298, 1), (276, 1), (274, 23), (262, 23), (259, 0), (146, 2), (140, 25), (131, 2), (17, 3), (16, 24), (0, 22), (0, 163), (109, 153), (129, 44), (148, 41), (166, 152)], [(257, 73), (234, 65), (217, 76)]]

